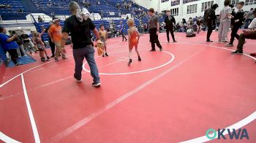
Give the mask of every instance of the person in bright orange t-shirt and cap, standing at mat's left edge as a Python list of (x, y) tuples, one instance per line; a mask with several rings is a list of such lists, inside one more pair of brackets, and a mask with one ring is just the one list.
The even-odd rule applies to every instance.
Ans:
[(61, 53), (61, 56), (63, 59), (67, 59), (65, 53), (64, 53), (64, 47), (61, 47), (61, 39), (62, 39), (62, 28), (59, 23), (59, 19), (53, 20), (54, 25), (50, 27), (48, 31), (48, 35), (50, 36), (50, 39), (52, 42), (54, 42), (56, 46), (56, 53), (55, 53), (55, 61), (59, 61), (59, 54)]

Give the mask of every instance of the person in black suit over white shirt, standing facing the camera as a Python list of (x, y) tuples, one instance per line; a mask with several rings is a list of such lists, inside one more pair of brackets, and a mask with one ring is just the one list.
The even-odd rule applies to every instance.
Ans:
[(176, 42), (175, 38), (174, 38), (174, 34), (173, 34), (173, 23), (174, 25), (176, 24), (175, 18), (173, 17), (173, 15), (170, 15), (170, 10), (166, 11), (166, 17), (165, 17), (165, 28), (166, 28), (166, 34), (167, 34), (167, 41), (170, 42), (170, 38), (169, 38), (169, 32), (173, 37), (173, 42)]

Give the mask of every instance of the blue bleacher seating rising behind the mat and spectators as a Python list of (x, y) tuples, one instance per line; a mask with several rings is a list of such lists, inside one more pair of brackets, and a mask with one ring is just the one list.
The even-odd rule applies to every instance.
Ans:
[[(30, 1), (30, 4), (28, 6), (28, 4), (26, 5), (26, 7), (23, 6), (23, 3), (28, 3)], [(6, 20), (6, 18), (3, 17), (4, 15), (8, 15), (7, 18), (14, 18), (14, 19), (19, 19), (18, 17), (20, 17), (20, 15), (23, 15), (23, 13), (18, 12), (19, 9), (22, 9), (23, 12), (28, 12), (27, 9), (29, 9), (29, 7), (33, 7), (34, 9), (39, 9), (40, 12), (46, 14), (46, 15), (50, 15), (52, 12), (54, 13), (54, 15), (69, 15), (69, 9), (68, 9), (68, 4), (69, 1), (71, 0), (29, 0), (24, 2), (25, 0), (1, 0), (0, 4), (10, 4), (12, 6), (11, 9), (1, 9), (1, 17), (3, 18), (3, 20)], [(80, 6), (83, 6), (83, 1), (84, 0), (78, 0)], [(103, 17), (104, 18), (113, 18), (113, 19), (117, 19), (117, 20), (94, 20), (93, 18), (91, 18), (92, 20), (94, 20), (94, 24), (97, 28), (99, 28), (100, 25), (104, 25), (105, 29), (110, 28), (110, 23), (113, 23), (113, 27), (118, 29), (118, 25), (121, 21), (121, 19), (119, 18), (119, 13), (122, 13), (123, 15), (126, 14), (131, 14), (131, 15), (140, 15), (141, 12), (138, 11), (138, 9), (140, 9), (143, 12), (147, 12), (147, 9), (145, 7), (141, 7), (138, 4), (135, 4), (132, 1), (124, 1), (124, 0), (85, 0), (85, 1), (89, 1), (90, 6), (87, 7), (87, 9), (89, 9), (89, 12), (94, 12), (94, 13), (100, 13), (102, 12)], [(97, 1), (99, 1), (100, 4), (97, 4)], [(119, 3), (121, 6), (125, 3), (129, 3), (132, 4), (130, 9), (124, 9), (123, 7), (119, 8), (116, 7), (116, 4)], [(136, 10), (135, 10), (136, 9)], [(28, 13), (26, 13), (26, 15), (28, 15)], [(33, 15), (32, 15), (32, 18)], [(138, 18), (138, 17), (137, 17)], [(160, 22), (163, 19), (160, 19)], [(45, 22), (45, 23), (37, 23), (37, 20), (35, 20), (34, 25), (37, 28), (38, 32), (42, 31), (42, 28), (48, 28), (49, 23)], [(127, 26), (127, 20), (122, 20), (124, 23), (124, 27), (125, 27), (125, 33), (127, 34), (127, 28), (129, 28)], [(135, 19), (135, 26), (139, 27), (140, 24), (143, 23), (148, 23), (148, 15), (144, 15), (143, 18), (140, 18), (140, 20)], [(61, 26), (64, 26), (64, 21), (61, 21)], [(48, 34), (43, 34), (42, 39), (45, 41), (48, 41)]]

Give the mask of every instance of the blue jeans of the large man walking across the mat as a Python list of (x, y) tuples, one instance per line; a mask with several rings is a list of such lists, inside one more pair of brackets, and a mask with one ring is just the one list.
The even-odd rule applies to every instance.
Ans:
[(90, 69), (91, 77), (94, 77), (94, 82), (99, 83), (99, 71), (94, 60), (94, 47), (88, 46), (80, 49), (73, 49), (73, 56), (75, 58), (75, 77), (79, 79), (82, 78), (82, 69), (83, 69), (83, 59), (86, 58)]

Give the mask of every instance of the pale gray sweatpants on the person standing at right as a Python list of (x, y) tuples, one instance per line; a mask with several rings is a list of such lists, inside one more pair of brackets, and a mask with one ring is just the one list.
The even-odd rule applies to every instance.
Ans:
[(226, 41), (226, 37), (227, 37), (228, 29), (230, 28), (230, 24), (231, 24), (231, 21), (228, 21), (228, 20), (220, 21), (220, 24), (219, 24), (219, 41), (220, 42)]

